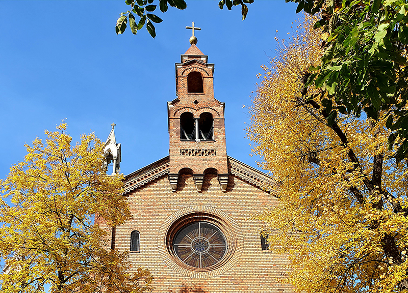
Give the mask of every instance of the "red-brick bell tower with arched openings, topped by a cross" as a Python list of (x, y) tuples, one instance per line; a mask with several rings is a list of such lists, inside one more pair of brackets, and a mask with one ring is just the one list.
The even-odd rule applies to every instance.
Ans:
[(228, 182), (224, 108), (214, 97), (214, 64), (196, 46), (194, 30), (190, 48), (175, 64), (176, 96), (167, 103), (170, 134), (170, 173), (172, 191), (176, 192), (181, 172), (194, 176), (197, 191), (206, 172), (216, 172), (222, 191)]

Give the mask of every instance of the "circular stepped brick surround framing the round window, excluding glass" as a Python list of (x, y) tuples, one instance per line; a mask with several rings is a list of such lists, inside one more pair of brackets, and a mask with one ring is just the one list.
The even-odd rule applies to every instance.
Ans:
[[(224, 234), (227, 250), (220, 262), (209, 268), (193, 268), (182, 262), (173, 251), (173, 239), (182, 227), (197, 221), (217, 226)], [(244, 237), (234, 218), (222, 210), (208, 206), (193, 206), (170, 215), (159, 229), (158, 250), (164, 262), (174, 271), (192, 278), (211, 278), (230, 270), (241, 257)]]

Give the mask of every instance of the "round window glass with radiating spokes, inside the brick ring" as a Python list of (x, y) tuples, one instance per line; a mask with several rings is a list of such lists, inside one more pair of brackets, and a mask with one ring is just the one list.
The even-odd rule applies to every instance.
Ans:
[(227, 242), (222, 231), (207, 222), (194, 222), (182, 227), (173, 241), (177, 257), (193, 268), (209, 268), (222, 260)]

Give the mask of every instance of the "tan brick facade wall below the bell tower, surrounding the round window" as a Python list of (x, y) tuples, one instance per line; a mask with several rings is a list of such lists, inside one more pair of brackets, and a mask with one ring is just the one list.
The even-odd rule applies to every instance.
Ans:
[[(132, 270), (149, 269), (155, 276), (154, 292), (292, 292), (290, 286), (275, 280), (284, 276), (288, 260), (262, 251), (260, 223), (248, 219), (265, 204), (276, 205), (273, 195), (233, 176), (222, 192), (216, 174), (206, 174), (197, 192), (192, 174), (184, 173), (176, 192), (163, 176), (130, 192), (128, 198), (133, 219), (116, 227), (115, 247), (129, 251), (131, 232), (140, 232), (140, 251), (130, 253)], [(232, 227), (235, 243), (228, 245), (235, 246), (234, 253), (220, 268), (208, 272), (187, 269), (168, 251), (168, 227), (194, 211), (217, 215)]]

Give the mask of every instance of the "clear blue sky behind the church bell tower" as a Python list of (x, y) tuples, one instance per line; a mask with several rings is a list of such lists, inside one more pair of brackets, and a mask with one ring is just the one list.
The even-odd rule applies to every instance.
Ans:
[(225, 102), (227, 154), (251, 166), (247, 108), (260, 66), (275, 53), (274, 37), (291, 33), (296, 5), (257, 0), (220, 10), (218, 1), (187, 1), (184, 11), (157, 14), (156, 39), (115, 33), (124, 1), (0, 2), (0, 178), (23, 160), (24, 143), (44, 137), (66, 118), (79, 140), (94, 131), (106, 140), (116, 123), (121, 172), (129, 174), (168, 155), (167, 101), (175, 96), (174, 63), (190, 46), (194, 21), (198, 48), (215, 64), (215, 98)]

